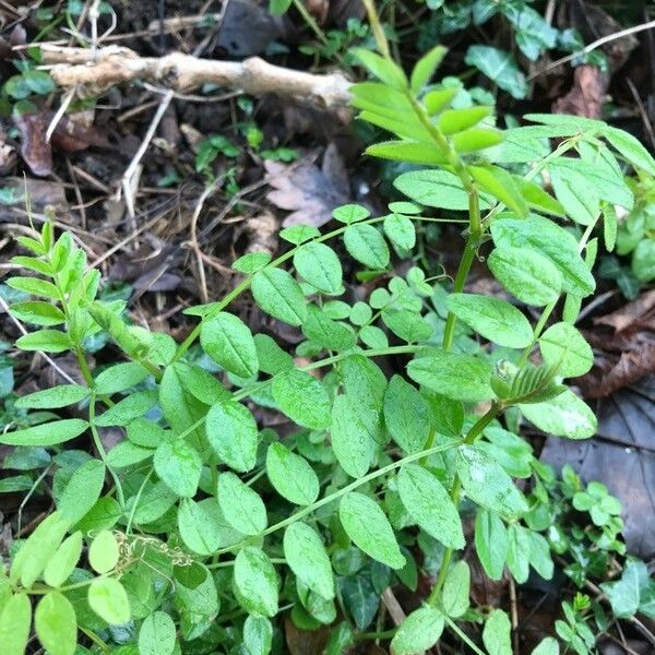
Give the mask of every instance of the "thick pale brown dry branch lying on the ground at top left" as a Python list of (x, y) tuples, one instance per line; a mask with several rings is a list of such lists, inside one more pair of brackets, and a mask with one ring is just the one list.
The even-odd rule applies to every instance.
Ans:
[(129, 48), (108, 46), (95, 52), (84, 48), (41, 46), (43, 63), (55, 82), (93, 97), (121, 82), (158, 82), (179, 92), (202, 84), (239, 88), (254, 96), (271, 93), (329, 109), (345, 107), (350, 83), (341, 73), (314, 75), (265, 62), (259, 57), (243, 61), (199, 59), (171, 52), (165, 57), (140, 57)]

